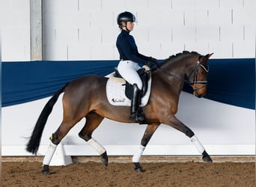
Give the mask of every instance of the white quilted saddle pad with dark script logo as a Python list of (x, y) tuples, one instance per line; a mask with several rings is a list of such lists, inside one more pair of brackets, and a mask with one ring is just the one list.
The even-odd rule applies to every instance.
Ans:
[[(114, 73), (113, 73), (114, 74)], [(106, 95), (112, 105), (131, 105), (131, 100), (125, 95), (125, 80), (109, 76), (106, 84)], [(141, 107), (147, 105), (151, 90), (151, 77), (148, 80), (147, 93), (141, 98)]]

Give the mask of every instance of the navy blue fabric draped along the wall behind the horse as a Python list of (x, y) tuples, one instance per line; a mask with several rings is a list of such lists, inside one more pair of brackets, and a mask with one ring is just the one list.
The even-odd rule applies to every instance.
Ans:
[[(207, 99), (255, 109), (255, 59), (210, 59)], [(2, 103), (16, 105), (51, 96), (86, 74), (106, 76), (118, 61), (2, 62)], [(192, 93), (189, 85), (183, 91)]]

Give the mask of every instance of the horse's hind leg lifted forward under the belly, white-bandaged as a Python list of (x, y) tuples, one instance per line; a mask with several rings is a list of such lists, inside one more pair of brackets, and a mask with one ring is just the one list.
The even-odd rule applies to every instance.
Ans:
[(90, 112), (86, 116), (85, 126), (79, 132), (79, 137), (87, 141), (88, 144), (91, 145), (91, 147), (94, 147), (94, 149), (97, 150), (97, 152), (100, 154), (101, 161), (104, 165), (107, 166), (109, 159), (106, 153), (106, 149), (99, 142), (91, 137), (92, 133), (100, 125), (103, 119), (104, 117), (100, 116), (99, 114)]

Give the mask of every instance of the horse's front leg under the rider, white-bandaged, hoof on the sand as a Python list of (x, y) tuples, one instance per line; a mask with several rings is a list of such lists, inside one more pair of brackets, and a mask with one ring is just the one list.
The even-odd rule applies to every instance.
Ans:
[(135, 171), (138, 173), (144, 172), (144, 170), (141, 168), (141, 165), (139, 164), (139, 161), (141, 159), (141, 155), (147, 146), (147, 143), (150, 141), (150, 138), (153, 135), (153, 132), (156, 131), (157, 127), (160, 123), (152, 123), (147, 126), (147, 129), (144, 132), (143, 138), (141, 139), (141, 145), (138, 147), (138, 150), (135, 152), (135, 154), (132, 156), (132, 162), (135, 165)]

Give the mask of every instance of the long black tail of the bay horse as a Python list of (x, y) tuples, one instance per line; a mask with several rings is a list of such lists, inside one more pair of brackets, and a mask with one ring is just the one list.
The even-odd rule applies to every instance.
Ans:
[[(67, 83), (67, 85), (68, 85), (68, 83)], [(34, 130), (33, 130), (32, 135), (28, 141), (28, 144), (27, 144), (26, 150), (28, 152), (37, 153), (37, 150), (40, 145), (41, 137), (43, 134), (43, 128), (46, 125), (46, 121), (49, 117), (49, 114), (51, 114), (52, 108), (58, 100), (58, 96), (60, 96), (60, 94), (62, 92), (64, 92), (64, 89), (67, 87), (67, 85), (65, 85), (59, 91), (55, 92), (54, 95), (52, 96), (52, 98), (49, 99), (49, 101), (44, 106), (43, 111), (41, 111), (41, 114), (37, 119), (37, 123), (34, 126)]]

